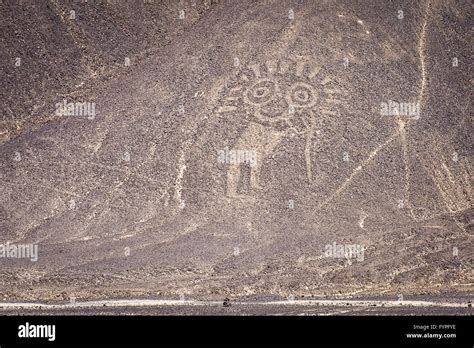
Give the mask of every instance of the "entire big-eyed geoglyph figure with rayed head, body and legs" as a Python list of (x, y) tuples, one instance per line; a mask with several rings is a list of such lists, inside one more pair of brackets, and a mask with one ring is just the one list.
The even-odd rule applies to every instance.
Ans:
[(308, 182), (313, 179), (313, 140), (324, 132), (322, 121), (340, 115), (345, 90), (309, 58), (270, 60), (241, 69), (226, 83), (227, 93), (218, 113), (248, 120), (233, 150), (253, 150), (249, 192), (238, 192), (242, 164), (229, 164), (227, 196), (246, 197), (260, 186), (262, 164), (286, 136), (305, 137), (304, 158)]

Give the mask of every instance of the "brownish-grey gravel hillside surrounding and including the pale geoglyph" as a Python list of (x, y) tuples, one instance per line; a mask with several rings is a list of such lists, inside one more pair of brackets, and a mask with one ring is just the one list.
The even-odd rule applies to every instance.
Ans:
[(471, 13), (3, 1), (0, 301), (469, 296)]

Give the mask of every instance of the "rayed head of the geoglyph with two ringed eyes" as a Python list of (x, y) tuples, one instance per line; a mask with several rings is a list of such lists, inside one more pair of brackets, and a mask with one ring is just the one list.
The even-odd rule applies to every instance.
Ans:
[(336, 115), (345, 91), (311, 58), (250, 64), (226, 84), (220, 113), (232, 113), (276, 130), (305, 132)]

